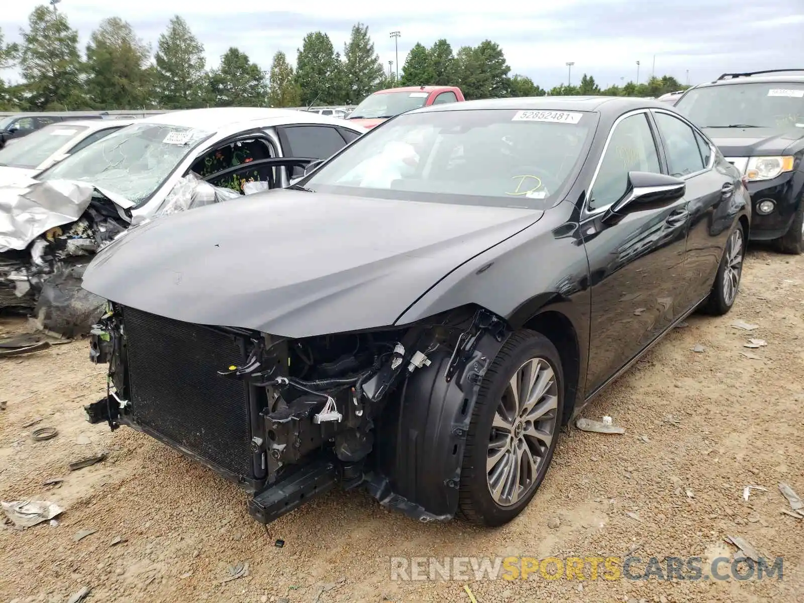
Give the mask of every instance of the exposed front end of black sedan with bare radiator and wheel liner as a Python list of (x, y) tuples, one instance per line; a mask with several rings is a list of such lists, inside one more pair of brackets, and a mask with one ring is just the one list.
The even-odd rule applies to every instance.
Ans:
[(507, 335), (474, 306), (293, 339), (110, 304), (90, 351), (109, 363), (109, 392), (85, 410), (240, 483), (260, 523), (336, 485), (445, 520), (482, 376)]

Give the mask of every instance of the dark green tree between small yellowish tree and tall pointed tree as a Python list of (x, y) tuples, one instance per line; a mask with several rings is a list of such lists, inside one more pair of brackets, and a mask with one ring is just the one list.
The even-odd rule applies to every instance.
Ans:
[(302, 105), (335, 105), (342, 101), (343, 66), (330, 36), (311, 31), (301, 42), (296, 57), (296, 83)]

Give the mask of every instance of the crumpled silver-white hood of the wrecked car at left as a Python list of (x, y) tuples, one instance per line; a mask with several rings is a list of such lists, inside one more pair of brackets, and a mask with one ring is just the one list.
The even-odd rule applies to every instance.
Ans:
[[(43, 232), (75, 222), (89, 206), (95, 191), (122, 209), (133, 207), (133, 203), (119, 195), (72, 180), (39, 182), (34, 178), (18, 178), (14, 184), (0, 188), (0, 252), (25, 249)], [(121, 213), (121, 217), (125, 216)]]

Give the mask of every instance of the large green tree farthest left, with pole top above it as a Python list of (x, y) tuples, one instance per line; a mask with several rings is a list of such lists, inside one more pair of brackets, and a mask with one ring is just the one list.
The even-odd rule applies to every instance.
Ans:
[(67, 17), (39, 5), (28, 17), (28, 31), (19, 33), (23, 36), (19, 66), (27, 104), (51, 111), (86, 108), (78, 32), (70, 28)]

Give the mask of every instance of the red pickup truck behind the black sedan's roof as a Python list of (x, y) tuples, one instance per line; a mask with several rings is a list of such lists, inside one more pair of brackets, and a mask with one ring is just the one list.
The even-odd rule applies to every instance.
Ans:
[(378, 90), (363, 99), (355, 107), (348, 119), (363, 128), (373, 128), (389, 117), (394, 117), (411, 109), (456, 103), (466, 100), (461, 88), (455, 86), (407, 86)]

